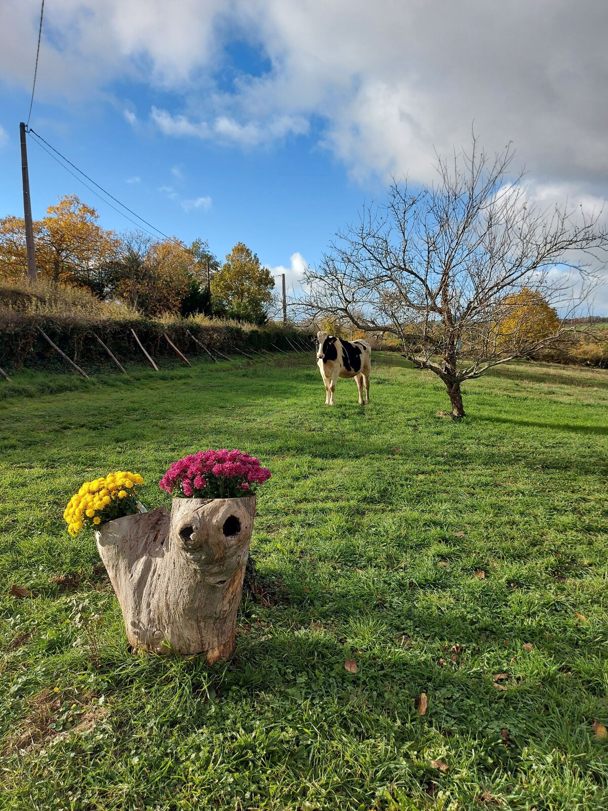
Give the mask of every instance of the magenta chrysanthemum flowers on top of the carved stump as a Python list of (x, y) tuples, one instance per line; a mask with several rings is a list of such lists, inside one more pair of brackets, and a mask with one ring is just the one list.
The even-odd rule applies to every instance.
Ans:
[(230, 498), (253, 493), (270, 478), (259, 459), (237, 448), (199, 451), (174, 461), (161, 478), (161, 490), (187, 498)]

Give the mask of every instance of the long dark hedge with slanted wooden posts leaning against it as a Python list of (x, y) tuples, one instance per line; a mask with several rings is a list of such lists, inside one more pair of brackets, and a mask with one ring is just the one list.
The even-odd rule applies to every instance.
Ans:
[[(52, 366), (68, 371), (66, 361), (49, 345), (41, 335), (42, 328), (66, 355), (83, 367), (92, 371), (95, 367), (117, 367), (110, 360), (105, 350), (96, 341), (99, 336), (109, 350), (126, 363), (147, 364), (148, 360), (140, 350), (131, 329), (135, 330), (139, 341), (152, 358), (171, 358), (180, 362), (169, 343), (165, 333), (186, 357), (208, 354), (194, 338), (210, 350), (219, 350), (225, 354), (234, 353), (237, 349), (276, 351), (272, 345), (286, 352), (293, 351), (289, 341), (309, 341), (307, 333), (294, 328), (283, 328), (269, 325), (263, 328), (241, 328), (232, 325), (200, 324), (196, 320), (183, 319), (163, 322), (143, 317), (128, 317), (114, 320), (87, 316), (79, 318), (63, 315), (22, 315), (11, 313), (10, 319), (3, 319), (0, 327), (0, 367), (9, 371), (18, 367)], [(194, 338), (193, 338), (194, 336)]]

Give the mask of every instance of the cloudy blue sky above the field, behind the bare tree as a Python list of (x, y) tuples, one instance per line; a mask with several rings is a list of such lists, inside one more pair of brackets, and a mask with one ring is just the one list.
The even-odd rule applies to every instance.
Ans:
[[(490, 152), (513, 141), (532, 196), (601, 205), (606, 3), (432, 6), (47, 0), (31, 126), (166, 234), (221, 258), (242, 240), (293, 285), (363, 200), (392, 174), (431, 180), (434, 150), (466, 144), (473, 121)], [(0, 6), (0, 216), (22, 211), (39, 13)], [(101, 225), (132, 227), (28, 152), (35, 217), (76, 193)]]

